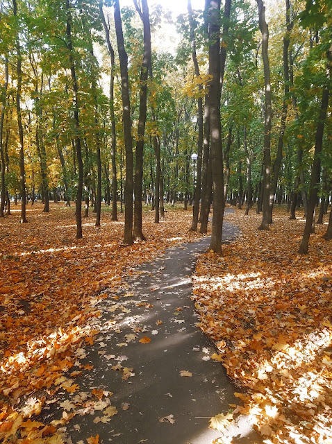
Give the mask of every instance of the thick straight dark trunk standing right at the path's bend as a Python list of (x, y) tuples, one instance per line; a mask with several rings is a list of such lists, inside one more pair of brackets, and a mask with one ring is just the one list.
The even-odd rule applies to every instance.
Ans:
[(220, 0), (209, 0), (209, 12), (210, 46), (208, 72), (212, 78), (210, 80), (208, 94), (210, 105), (210, 161), (213, 180), (213, 220), (209, 249), (213, 250), (214, 253), (221, 254), (222, 222), (224, 219), (224, 173), (222, 161), (222, 127), (220, 123)]

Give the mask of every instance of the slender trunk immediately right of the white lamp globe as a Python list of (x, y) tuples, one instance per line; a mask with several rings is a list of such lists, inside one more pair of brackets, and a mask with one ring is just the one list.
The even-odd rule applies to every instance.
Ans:
[[(199, 65), (197, 62), (196, 53), (196, 41), (194, 36), (194, 19), (192, 18), (192, 4), (191, 0), (188, 0), (188, 15), (190, 24), (190, 40), (192, 46), (192, 61), (194, 62), (195, 76), (198, 78), (200, 75)], [(203, 87), (199, 85), (199, 97), (197, 98), (198, 109), (198, 141), (197, 141), (197, 174), (196, 174), (196, 186), (194, 189), (194, 206), (192, 211), (192, 225), (190, 231), (197, 231), (198, 216), (199, 216), (199, 201), (201, 200), (201, 163), (202, 163), (202, 151), (203, 151)]]

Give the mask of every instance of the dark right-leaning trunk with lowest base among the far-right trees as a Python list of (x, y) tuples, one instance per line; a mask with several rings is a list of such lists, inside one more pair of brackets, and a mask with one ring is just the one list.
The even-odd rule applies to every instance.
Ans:
[(326, 112), (329, 104), (329, 80), (331, 81), (331, 65), (332, 65), (332, 45), (327, 53), (328, 63), (326, 67), (326, 78), (328, 81), (323, 88), (322, 93), (322, 103), (319, 111), (319, 119), (316, 131), (316, 142), (315, 142), (315, 155), (313, 158), (313, 167), (311, 169), (311, 180), (310, 180), (310, 195), (308, 204), (308, 215), (306, 218), (306, 226), (304, 228), (304, 234), (301, 241), (301, 246), (299, 248), (299, 253), (305, 255), (308, 253), (308, 244), (310, 238), (310, 232), (312, 232), (313, 221), (315, 217), (315, 207), (318, 198), (318, 186), (320, 180), (320, 156), (322, 153), (323, 145), (323, 135), (324, 135), (324, 124), (326, 120)]

